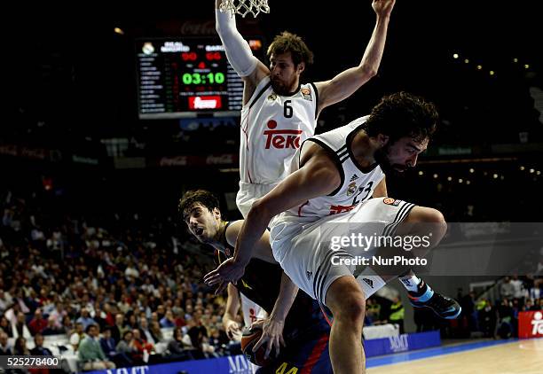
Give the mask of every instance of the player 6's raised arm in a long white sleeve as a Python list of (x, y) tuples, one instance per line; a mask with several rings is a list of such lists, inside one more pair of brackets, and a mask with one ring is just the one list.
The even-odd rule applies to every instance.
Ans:
[(231, 11), (221, 12), (220, 3), (221, 0), (215, 0), (216, 33), (221, 38), (228, 62), (246, 83), (243, 91), (244, 104), (246, 104), (253, 95), (256, 84), (264, 76), (269, 75), (270, 70), (253, 56), (247, 41), (243, 39), (236, 27), (235, 15)]

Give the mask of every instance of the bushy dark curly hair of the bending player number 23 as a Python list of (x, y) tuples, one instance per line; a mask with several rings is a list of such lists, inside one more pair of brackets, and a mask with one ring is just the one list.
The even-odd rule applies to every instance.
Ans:
[(412, 136), (420, 142), (436, 132), (437, 120), (434, 104), (402, 91), (382, 97), (372, 109), (364, 129), (368, 136), (390, 136), (390, 144), (404, 136)]

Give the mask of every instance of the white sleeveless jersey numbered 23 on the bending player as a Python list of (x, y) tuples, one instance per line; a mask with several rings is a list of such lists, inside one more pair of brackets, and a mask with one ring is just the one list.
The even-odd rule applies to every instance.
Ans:
[[(314, 222), (327, 215), (349, 212), (358, 203), (372, 198), (374, 189), (382, 181), (384, 173), (376, 163), (369, 168), (360, 167), (350, 151), (353, 137), (367, 118), (368, 116), (358, 118), (346, 126), (311, 136), (307, 140), (319, 144), (330, 152), (341, 174), (342, 183), (329, 195), (310, 199), (301, 206), (289, 209), (285, 215), (304, 217), (305, 222)], [(298, 168), (296, 158), (292, 163), (291, 173)]]

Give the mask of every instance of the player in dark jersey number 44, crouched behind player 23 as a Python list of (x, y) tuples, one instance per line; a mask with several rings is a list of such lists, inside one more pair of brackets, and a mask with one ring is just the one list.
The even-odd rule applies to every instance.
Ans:
[[(179, 201), (179, 212), (191, 234), (201, 243), (215, 248), (217, 264), (232, 256), (233, 245), (243, 221), (225, 222), (218, 200), (209, 191), (188, 191)], [(258, 373), (295, 372), (331, 373), (328, 355), (329, 323), (319, 307), (306, 293), (283, 273), (271, 255), (268, 233), (256, 245), (255, 255), (249, 261), (245, 274), (232, 288), (256, 302), (269, 314), (267, 326), (272, 331), (267, 352), (275, 346), (279, 355)], [(297, 294), (296, 294), (297, 292)], [(264, 325), (264, 328), (266, 325)], [(279, 348), (279, 342), (285, 347)], [(259, 341), (256, 347), (265, 342)], [(295, 369), (295, 371), (291, 371)]]

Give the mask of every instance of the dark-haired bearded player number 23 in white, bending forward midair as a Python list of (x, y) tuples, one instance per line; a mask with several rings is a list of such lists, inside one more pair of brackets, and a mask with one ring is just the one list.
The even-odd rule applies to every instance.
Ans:
[[(390, 198), (370, 199), (384, 173), (403, 172), (416, 165), (436, 122), (434, 105), (401, 92), (383, 97), (369, 116), (311, 137), (293, 160), (292, 174), (251, 207), (232, 259), (204, 280), (208, 284), (236, 282), (254, 243), (279, 214), (271, 222), (273, 256), (298, 287), (332, 311), (329, 349), (334, 372), (365, 372), (364, 352), (359, 349), (365, 300), (386, 283), (385, 275), (404, 269), (358, 269), (342, 264), (344, 258), (368, 253), (354, 244), (342, 243), (339, 249), (330, 244), (351, 233), (421, 235), (417, 232), (421, 225), (413, 228), (413, 223), (425, 223), (432, 228), (430, 245), (413, 249), (413, 253), (424, 255), (437, 245), (445, 235), (446, 223), (436, 209)], [(411, 277), (416, 284), (409, 291), (414, 306), (432, 308), (445, 318), (460, 315), (457, 302)]]

